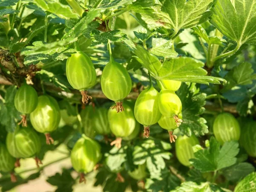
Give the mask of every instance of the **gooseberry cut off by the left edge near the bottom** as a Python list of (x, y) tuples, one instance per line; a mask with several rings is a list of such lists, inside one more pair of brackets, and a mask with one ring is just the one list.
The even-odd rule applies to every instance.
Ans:
[(6, 145), (0, 143), (0, 171), (11, 172), (14, 169), (15, 158), (8, 152)]

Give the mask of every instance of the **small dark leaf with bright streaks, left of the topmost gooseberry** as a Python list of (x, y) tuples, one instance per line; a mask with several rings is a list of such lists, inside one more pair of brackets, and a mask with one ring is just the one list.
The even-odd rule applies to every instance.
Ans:
[(56, 87), (61, 88), (64, 91), (70, 92), (69, 88), (70, 84), (67, 81), (66, 76), (64, 75), (56, 75), (52, 72), (49, 72), (47, 70), (40, 70), (36, 73), (37, 76), (43, 81), (44, 83), (52, 83)]

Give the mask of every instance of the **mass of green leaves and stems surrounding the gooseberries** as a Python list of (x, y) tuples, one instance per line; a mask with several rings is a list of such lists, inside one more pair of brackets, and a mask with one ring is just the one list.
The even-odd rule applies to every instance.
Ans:
[[(149, 139), (139, 137), (132, 145), (123, 143), (118, 152), (98, 136), (96, 140), (108, 160), (99, 169), (95, 186), (112, 192), (128, 188), (137, 191), (137, 181), (131, 179), (127, 171), (146, 162), (148, 177), (143, 190), (239, 191), (240, 187), (245, 191), (256, 190), (255, 186), (247, 186), (249, 181), (256, 182), (255, 158), (248, 157), (238, 142), (227, 142), (220, 147), (212, 137), (212, 122), (221, 110), (239, 117), (241, 125), (255, 119), (256, 16), (253, 10), (256, 2), (78, 2), (83, 12), (72, 10), (65, 0), (0, 0), (1, 141), (4, 142), (7, 131), (14, 131), (20, 120), (13, 99), (16, 86), (19, 87), (28, 74), (36, 74), (33, 82), (38, 94), (46, 92), (58, 101), (65, 99), (62, 109), (70, 111), (72, 105), (77, 111), (81, 110), (81, 96), (70, 87), (65, 76), (65, 62), (75, 52), (74, 42), (90, 55), (96, 68), (98, 83), (89, 90), (93, 102), (98, 106), (111, 105), (99, 86), (102, 69), (109, 61), (106, 47), (109, 39), (115, 60), (126, 66), (134, 82), (128, 99), (136, 99), (140, 90), (148, 86), (147, 70), (155, 79), (188, 82), (177, 91), (184, 117), (177, 134), (196, 134), (204, 149), (196, 148), (194, 168), (188, 169), (177, 161), (174, 145), (169, 144), (167, 132), (158, 125), (151, 127)], [(79, 123), (60, 125), (52, 134), (55, 145), (43, 144), (39, 157), (44, 165), (47, 165), (45, 153), (56, 150), (61, 143), (70, 151), (80, 137), (78, 130)], [(41, 137), (44, 143), (44, 136)], [(223, 158), (220, 160), (220, 157)], [(115, 169), (119, 167), (123, 168), (125, 183), (115, 181)], [(16, 184), (11, 184), (9, 176), (3, 175), (2, 191), (39, 177), (43, 174), (41, 170), (21, 175)], [(67, 167), (47, 182), (57, 186), (56, 191), (71, 191), (76, 182), (76, 175), (71, 173), (73, 169)]]

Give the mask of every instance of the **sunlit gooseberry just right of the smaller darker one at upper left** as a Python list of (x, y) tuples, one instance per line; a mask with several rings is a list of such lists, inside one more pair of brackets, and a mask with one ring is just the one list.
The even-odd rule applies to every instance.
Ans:
[(39, 96), (38, 105), (30, 113), (30, 121), (36, 131), (49, 133), (58, 128), (61, 119), (60, 108), (52, 96)]

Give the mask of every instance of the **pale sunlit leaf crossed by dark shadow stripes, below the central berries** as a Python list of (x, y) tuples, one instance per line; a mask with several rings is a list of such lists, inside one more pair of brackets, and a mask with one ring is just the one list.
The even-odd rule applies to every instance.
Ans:
[(156, 139), (147, 139), (138, 142), (134, 146), (134, 164), (147, 164), (151, 178), (159, 178), (161, 170), (166, 167), (164, 159), (170, 159), (171, 153), (167, 150), (171, 148), (169, 143)]

